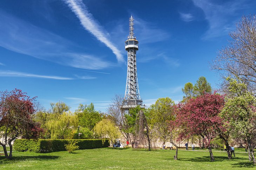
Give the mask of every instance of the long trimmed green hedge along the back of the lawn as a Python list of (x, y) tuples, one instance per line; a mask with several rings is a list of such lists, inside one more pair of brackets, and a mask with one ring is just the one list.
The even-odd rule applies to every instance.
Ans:
[(15, 150), (21, 152), (47, 153), (66, 150), (65, 144), (69, 141), (77, 141), (79, 149), (94, 149), (109, 146), (107, 139), (104, 143), (101, 139), (17, 139), (13, 147)]

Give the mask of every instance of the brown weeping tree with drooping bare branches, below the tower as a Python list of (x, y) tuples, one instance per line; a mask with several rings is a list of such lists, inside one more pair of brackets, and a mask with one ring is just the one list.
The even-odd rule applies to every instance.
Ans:
[(148, 123), (146, 116), (142, 110), (140, 110), (137, 114), (133, 131), (135, 137), (135, 147), (137, 148), (148, 145), (148, 149), (151, 150)]

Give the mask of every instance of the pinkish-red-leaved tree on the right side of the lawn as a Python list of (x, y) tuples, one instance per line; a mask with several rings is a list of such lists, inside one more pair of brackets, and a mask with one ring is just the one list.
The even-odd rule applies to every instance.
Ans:
[(190, 99), (186, 104), (174, 106), (176, 112), (176, 127), (180, 133), (178, 139), (187, 139), (192, 135), (200, 135), (206, 144), (211, 161), (214, 161), (211, 151), (211, 141), (223, 130), (222, 119), (218, 116), (224, 106), (224, 96), (204, 94)]

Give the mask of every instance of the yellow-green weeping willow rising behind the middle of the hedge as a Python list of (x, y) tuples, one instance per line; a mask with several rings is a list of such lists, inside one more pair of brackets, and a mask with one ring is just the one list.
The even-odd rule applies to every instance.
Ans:
[(51, 131), (51, 139), (72, 138), (70, 134), (78, 126), (78, 117), (72, 112), (64, 112), (57, 118), (47, 121), (46, 126)]

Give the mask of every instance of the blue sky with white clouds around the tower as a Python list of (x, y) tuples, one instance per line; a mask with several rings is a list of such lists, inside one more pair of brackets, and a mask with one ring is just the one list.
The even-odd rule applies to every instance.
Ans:
[(200, 76), (218, 88), (209, 62), (255, 6), (254, 0), (3, 0), (0, 90), (38, 96), (46, 109), (51, 102), (72, 111), (93, 102), (105, 112), (116, 94), (124, 95), (132, 14), (143, 103), (160, 97), (177, 103), (184, 84)]

